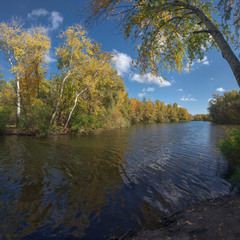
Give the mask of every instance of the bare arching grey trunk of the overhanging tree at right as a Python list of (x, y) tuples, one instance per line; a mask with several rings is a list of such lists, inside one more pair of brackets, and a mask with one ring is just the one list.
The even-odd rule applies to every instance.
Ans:
[(186, 9), (192, 10), (207, 27), (208, 32), (212, 35), (213, 39), (217, 43), (218, 47), (222, 52), (223, 58), (228, 62), (232, 69), (232, 72), (237, 80), (238, 86), (240, 87), (240, 62), (237, 56), (232, 51), (228, 42), (225, 40), (223, 34), (218, 30), (218, 28), (213, 24), (213, 22), (206, 16), (206, 14), (199, 8), (189, 5), (187, 3), (176, 1), (175, 6), (181, 6)]

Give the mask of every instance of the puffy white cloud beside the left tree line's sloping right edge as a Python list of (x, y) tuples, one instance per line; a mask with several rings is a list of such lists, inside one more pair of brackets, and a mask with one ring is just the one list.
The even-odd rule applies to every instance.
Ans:
[(120, 53), (117, 50), (113, 50), (113, 61), (115, 62), (115, 68), (118, 71), (119, 75), (123, 75), (125, 73), (129, 73), (131, 64), (132, 64), (132, 58), (125, 54)]

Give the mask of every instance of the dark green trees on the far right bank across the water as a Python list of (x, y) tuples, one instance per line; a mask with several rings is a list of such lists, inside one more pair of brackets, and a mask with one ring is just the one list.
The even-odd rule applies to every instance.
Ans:
[(237, 90), (225, 92), (222, 96), (213, 94), (209, 102), (209, 113), (215, 123), (240, 124), (240, 93)]

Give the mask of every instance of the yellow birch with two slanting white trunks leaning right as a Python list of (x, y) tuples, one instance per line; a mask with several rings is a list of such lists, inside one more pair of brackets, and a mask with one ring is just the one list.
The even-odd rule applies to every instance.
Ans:
[(87, 37), (87, 32), (80, 26), (69, 27), (60, 38), (61, 45), (56, 49), (58, 67), (62, 75), (59, 98), (51, 118), (54, 122), (64, 94), (64, 86), (72, 84), (74, 103), (64, 128), (66, 129), (79, 97), (86, 91), (94, 91), (98, 81), (103, 81), (104, 71), (110, 68), (111, 55), (103, 52), (100, 46)]

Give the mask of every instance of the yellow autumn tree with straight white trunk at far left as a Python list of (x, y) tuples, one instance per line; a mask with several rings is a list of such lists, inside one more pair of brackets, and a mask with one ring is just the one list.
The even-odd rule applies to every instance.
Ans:
[(15, 77), (17, 95), (17, 123), (23, 98), (30, 103), (43, 79), (43, 66), (50, 48), (48, 37), (41, 29), (25, 30), (20, 21), (0, 24), (0, 49)]

